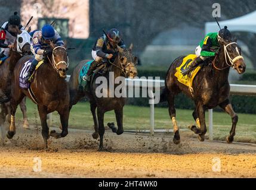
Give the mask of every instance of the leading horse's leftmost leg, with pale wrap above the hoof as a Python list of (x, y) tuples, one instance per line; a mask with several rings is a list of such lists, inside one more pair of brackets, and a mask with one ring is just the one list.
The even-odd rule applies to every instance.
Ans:
[(179, 132), (179, 128), (178, 128), (177, 121), (176, 121), (176, 110), (174, 107), (174, 94), (172, 94), (172, 93), (168, 94), (167, 102), (169, 105), (169, 116), (172, 120), (172, 124), (173, 124), (173, 128), (174, 128), (173, 142), (174, 142), (174, 144), (179, 144), (180, 143), (180, 132)]

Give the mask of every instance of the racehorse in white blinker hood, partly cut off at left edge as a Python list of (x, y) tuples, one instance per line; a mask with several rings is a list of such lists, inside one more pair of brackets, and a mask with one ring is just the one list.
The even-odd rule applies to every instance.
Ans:
[[(30, 55), (30, 41), (31, 37), (26, 30), (18, 31), (17, 39), (7, 59), (0, 65), (0, 91), (1, 91), (1, 113), (0, 113), (0, 127), (2, 131), (2, 144), (4, 144), (4, 122), (8, 114), (10, 121), (10, 94), (11, 94), (11, 75), (13, 74), (14, 66), (18, 59), (24, 55)], [(28, 128), (29, 123), (26, 116), (26, 100), (23, 99), (20, 103), (20, 108), (23, 113), (23, 127)]]

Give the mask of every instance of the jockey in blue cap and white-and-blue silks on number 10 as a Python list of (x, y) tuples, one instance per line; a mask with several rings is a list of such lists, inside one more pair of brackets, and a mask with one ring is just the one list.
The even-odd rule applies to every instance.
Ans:
[(25, 78), (26, 82), (29, 82), (29, 78), (35, 71), (36, 65), (38, 65), (39, 61), (42, 61), (44, 55), (48, 55), (52, 52), (50, 42), (53, 42), (57, 46), (64, 46), (64, 42), (58, 32), (49, 24), (45, 24), (42, 30), (35, 31), (33, 34), (31, 52), (35, 55), (35, 59), (33, 59), (29, 71), (27, 72)]

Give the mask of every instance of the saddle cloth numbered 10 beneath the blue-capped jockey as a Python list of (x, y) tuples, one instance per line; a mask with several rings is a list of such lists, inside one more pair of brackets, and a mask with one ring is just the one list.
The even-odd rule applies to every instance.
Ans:
[[(33, 59), (30, 59), (29, 61), (25, 62), (23, 67), (21, 68), (21, 71), (20, 71), (20, 76), (18, 77), (18, 80), (20, 82), (20, 87), (21, 88), (29, 88), (30, 87), (30, 83), (25, 81), (25, 78), (27, 76), (27, 72), (29, 71), (29, 68), (31, 66), (31, 63), (32, 63)], [(32, 81), (33, 79), (33, 75), (35, 74), (36, 70), (39, 68), (39, 66), (41, 66), (42, 64), (44, 63), (44, 60), (40, 61), (38, 63), (38, 65), (36, 65), (36, 69), (35, 71), (33, 72), (33, 74), (31, 75), (30, 77), (30, 81)]]

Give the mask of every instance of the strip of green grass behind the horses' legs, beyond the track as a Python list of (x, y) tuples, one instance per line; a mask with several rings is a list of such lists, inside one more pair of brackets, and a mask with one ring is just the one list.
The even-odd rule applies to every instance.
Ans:
[[(150, 112), (149, 107), (139, 107), (126, 105), (124, 107), (124, 129), (149, 129)], [(40, 125), (36, 105), (27, 100), (27, 115), (29, 122), (35, 121)], [(187, 129), (187, 126), (194, 124), (192, 110), (177, 109), (177, 122), (181, 129)], [(17, 110), (17, 118), (21, 119), (20, 109)], [(224, 140), (231, 129), (230, 116), (224, 112), (214, 112), (214, 139)], [(21, 120), (20, 120), (21, 122)], [(115, 113), (107, 112), (104, 116), (104, 124), (115, 122)], [(53, 125), (58, 126), (60, 120), (58, 113), (53, 113)], [(78, 129), (93, 129), (93, 119), (88, 102), (79, 102), (73, 106), (70, 112), (69, 127)], [(206, 125), (208, 125), (208, 112), (206, 112)], [(155, 128), (172, 129), (172, 122), (169, 119), (168, 109), (166, 107), (155, 108)], [(239, 113), (239, 122), (236, 128), (236, 141), (256, 143), (256, 116)]]

